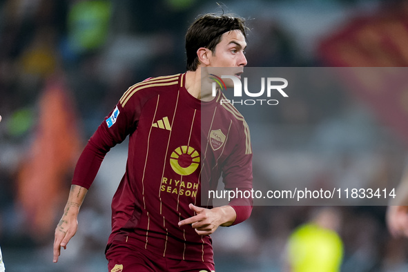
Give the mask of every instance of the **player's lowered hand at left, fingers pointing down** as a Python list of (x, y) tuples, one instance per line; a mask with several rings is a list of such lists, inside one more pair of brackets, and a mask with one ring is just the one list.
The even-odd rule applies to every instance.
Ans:
[(54, 239), (54, 259), (53, 262), (58, 262), (58, 257), (61, 254), (61, 247), (66, 249), (66, 245), (70, 239), (77, 233), (78, 220), (76, 215), (64, 215), (55, 229)]

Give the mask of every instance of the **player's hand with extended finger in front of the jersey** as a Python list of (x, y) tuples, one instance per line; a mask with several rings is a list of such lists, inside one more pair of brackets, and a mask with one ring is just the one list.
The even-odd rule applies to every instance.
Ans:
[[(179, 226), (191, 224), (193, 229), (195, 229), (195, 232), (199, 235), (210, 235), (218, 228), (218, 226), (229, 222), (230, 220), (226, 220), (224, 215), (226, 212), (231, 213), (231, 210), (233, 210), (231, 206), (210, 209), (189, 204), (188, 207), (197, 215), (180, 221)], [(235, 211), (233, 213), (235, 216)]]

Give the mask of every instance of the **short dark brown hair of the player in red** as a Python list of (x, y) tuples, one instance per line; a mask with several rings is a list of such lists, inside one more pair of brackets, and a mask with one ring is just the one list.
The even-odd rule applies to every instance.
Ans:
[(186, 33), (187, 70), (195, 71), (200, 64), (197, 57), (198, 48), (207, 48), (215, 52), (215, 46), (221, 36), (231, 30), (241, 30), (246, 39), (245, 20), (233, 14), (208, 13), (195, 19)]

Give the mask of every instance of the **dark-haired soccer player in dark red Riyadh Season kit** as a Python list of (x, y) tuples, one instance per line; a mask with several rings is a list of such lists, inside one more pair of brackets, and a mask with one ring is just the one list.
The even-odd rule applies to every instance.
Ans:
[(79, 157), (55, 229), (54, 262), (77, 231), (102, 159), (129, 135), (126, 172), (112, 201), (108, 271), (215, 271), (209, 235), (246, 220), (252, 200), (213, 207), (200, 191), (215, 190), (221, 175), (224, 188), (250, 190), (252, 150), (242, 115), (220, 104), (220, 91), (204, 92), (202, 86), (211, 86), (204, 71), (226, 67), (240, 78), (245, 48), (243, 19), (204, 14), (186, 33), (186, 72), (128, 88)]

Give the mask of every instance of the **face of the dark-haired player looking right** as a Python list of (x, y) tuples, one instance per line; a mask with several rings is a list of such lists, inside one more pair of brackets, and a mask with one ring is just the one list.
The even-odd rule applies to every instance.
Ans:
[(245, 37), (240, 30), (225, 32), (220, 43), (215, 46), (215, 52), (210, 52), (210, 67), (231, 67), (229, 75), (235, 75), (241, 79), (241, 74), (246, 66), (244, 49), (246, 48)]

